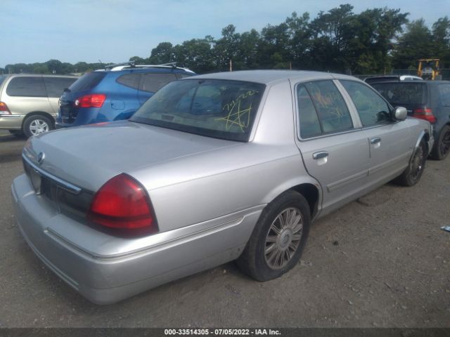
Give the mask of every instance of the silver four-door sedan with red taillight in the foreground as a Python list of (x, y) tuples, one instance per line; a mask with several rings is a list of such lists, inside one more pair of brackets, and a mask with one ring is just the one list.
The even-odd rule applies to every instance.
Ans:
[(427, 121), (354, 77), (207, 74), (129, 121), (30, 138), (13, 204), (37, 256), (94, 303), (236, 259), (263, 282), (295, 266), (311, 220), (415, 185), (432, 143)]

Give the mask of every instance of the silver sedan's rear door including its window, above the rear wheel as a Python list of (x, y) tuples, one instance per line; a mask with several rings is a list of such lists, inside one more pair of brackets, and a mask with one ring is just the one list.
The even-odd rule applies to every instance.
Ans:
[(335, 81), (311, 81), (295, 87), (304, 165), (323, 190), (328, 213), (368, 184), (369, 146), (358, 130)]

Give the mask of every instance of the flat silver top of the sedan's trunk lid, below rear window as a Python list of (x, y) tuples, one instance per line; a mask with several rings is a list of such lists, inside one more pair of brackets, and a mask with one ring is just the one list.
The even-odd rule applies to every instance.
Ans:
[(95, 192), (120, 173), (239, 143), (131, 121), (91, 124), (30, 138), (25, 155), (68, 183)]

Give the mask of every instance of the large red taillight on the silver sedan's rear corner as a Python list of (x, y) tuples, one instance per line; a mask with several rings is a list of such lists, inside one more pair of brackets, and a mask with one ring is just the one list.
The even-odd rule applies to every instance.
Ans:
[(158, 224), (146, 190), (122, 173), (108, 180), (94, 195), (88, 213), (92, 223), (120, 230), (157, 232)]

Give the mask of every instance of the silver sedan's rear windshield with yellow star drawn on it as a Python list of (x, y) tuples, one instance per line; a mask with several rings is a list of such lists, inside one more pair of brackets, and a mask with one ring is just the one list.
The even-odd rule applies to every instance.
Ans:
[(155, 93), (130, 120), (245, 142), (264, 88), (244, 81), (174, 81)]

